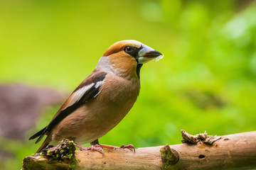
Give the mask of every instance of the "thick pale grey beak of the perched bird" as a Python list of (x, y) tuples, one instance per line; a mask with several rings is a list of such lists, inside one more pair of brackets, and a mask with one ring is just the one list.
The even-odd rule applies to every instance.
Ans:
[(147, 45), (142, 45), (142, 50), (139, 50), (138, 53), (138, 63), (145, 64), (156, 57), (161, 58), (163, 55)]

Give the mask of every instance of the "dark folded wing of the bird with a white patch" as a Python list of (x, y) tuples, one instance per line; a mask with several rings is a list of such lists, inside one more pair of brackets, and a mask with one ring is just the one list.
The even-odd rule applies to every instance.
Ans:
[(88, 76), (82, 83), (73, 91), (73, 93), (68, 97), (67, 101), (60, 107), (60, 110), (53, 116), (52, 120), (46, 128), (39, 131), (35, 135), (29, 138), (32, 140), (38, 136), (38, 140), (36, 143), (39, 142), (47, 132), (50, 132), (55, 125), (61, 122), (64, 118), (66, 118), (70, 113), (73, 113), (76, 109), (80, 106), (85, 104), (92, 98), (95, 98), (97, 94), (100, 93), (100, 87), (106, 77), (105, 72), (99, 72), (95, 70)]

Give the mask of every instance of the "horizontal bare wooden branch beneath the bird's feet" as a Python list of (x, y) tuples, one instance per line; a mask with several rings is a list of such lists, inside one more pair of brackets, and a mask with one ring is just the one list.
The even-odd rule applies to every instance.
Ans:
[(76, 159), (73, 155), (58, 155), (58, 158), (54, 158), (50, 153), (60, 153), (63, 148), (58, 147), (58, 151), (51, 148), (49, 153), (44, 152), (48, 156), (33, 155), (23, 159), (23, 170), (256, 168), (256, 131), (221, 137), (208, 136), (206, 132), (189, 135), (182, 131), (182, 135), (185, 143), (180, 145), (137, 148), (135, 153), (129, 149), (106, 149), (104, 155), (100, 152), (76, 150)]

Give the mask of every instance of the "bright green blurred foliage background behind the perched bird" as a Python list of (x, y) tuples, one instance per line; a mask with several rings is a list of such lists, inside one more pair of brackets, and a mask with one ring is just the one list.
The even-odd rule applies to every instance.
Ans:
[[(0, 82), (69, 94), (107, 47), (134, 39), (164, 59), (142, 67), (137, 103), (101, 143), (150, 147), (181, 143), (181, 129), (210, 135), (252, 131), (255, 16), (255, 1), (242, 0), (1, 0)], [(27, 138), (59, 107), (46, 108)], [(1, 149), (12, 157), (0, 169), (20, 169), (23, 157), (40, 144), (2, 137)]]

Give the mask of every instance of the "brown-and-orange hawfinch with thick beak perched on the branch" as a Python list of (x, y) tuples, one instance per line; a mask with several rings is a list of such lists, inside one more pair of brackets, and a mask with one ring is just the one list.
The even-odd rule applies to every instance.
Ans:
[[(106, 147), (99, 145), (98, 139), (112, 130), (137, 101), (142, 65), (161, 57), (160, 52), (136, 40), (122, 40), (111, 45), (46, 128), (29, 138), (38, 137), (37, 143), (47, 135), (37, 152), (64, 138), (73, 140), (80, 149)], [(86, 143), (92, 146), (80, 145)]]

